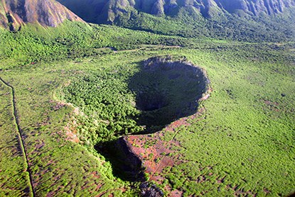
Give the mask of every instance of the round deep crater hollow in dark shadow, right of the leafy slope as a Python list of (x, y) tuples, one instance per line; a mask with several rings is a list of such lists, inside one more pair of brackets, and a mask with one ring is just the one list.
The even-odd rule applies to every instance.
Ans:
[(205, 70), (185, 59), (166, 56), (145, 60), (140, 72), (129, 80), (136, 108), (141, 111), (136, 122), (144, 125), (144, 133), (153, 133), (178, 118), (193, 115), (198, 101), (208, 94), (209, 84)]

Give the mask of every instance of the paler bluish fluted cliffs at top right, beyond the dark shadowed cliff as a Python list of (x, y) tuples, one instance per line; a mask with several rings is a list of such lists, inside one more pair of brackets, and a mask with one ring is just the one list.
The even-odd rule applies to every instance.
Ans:
[[(171, 11), (181, 7), (193, 7), (203, 16), (210, 16), (215, 11), (235, 13), (245, 11), (251, 15), (265, 13), (271, 15), (281, 13), (284, 9), (295, 6), (292, 0), (117, 0), (117, 4), (131, 6), (140, 11), (154, 15), (171, 14)], [(115, 9), (115, 7), (114, 7)]]

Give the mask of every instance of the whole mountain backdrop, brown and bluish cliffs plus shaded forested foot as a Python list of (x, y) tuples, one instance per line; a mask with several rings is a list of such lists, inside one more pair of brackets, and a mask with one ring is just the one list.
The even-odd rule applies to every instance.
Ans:
[(0, 0), (0, 27), (11, 31), (68, 19), (185, 38), (279, 42), (294, 40), (294, 14), (294, 0)]

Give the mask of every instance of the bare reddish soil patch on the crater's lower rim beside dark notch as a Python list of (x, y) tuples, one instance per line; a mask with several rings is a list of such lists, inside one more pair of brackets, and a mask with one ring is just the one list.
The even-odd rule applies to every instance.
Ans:
[[(178, 141), (174, 139), (177, 135), (177, 128), (180, 126), (189, 126), (188, 120), (200, 120), (203, 119), (201, 116), (205, 113), (204, 108), (200, 108), (198, 113), (193, 116), (181, 118), (176, 120), (170, 125), (167, 125), (159, 133), (152, 135), (129, 135), (124, 137), (127, 140), (129, 149), (141, 159), (142, 165), (145, 168), (145, 172), (149, 174), (149, 180), (156, 181), (158, 184), (163, 184), (165, 177), (161, 176), (163, 169), (166, 167), (173, 167), (181, 164), (182, 161), (178, 159), (181, 156), (176, 150), (171, 150), (171, 147), (181, 146)], [(175, 133), (171, 135), (171, 140), (164, 140), (165, 133)], [(182, 191), (173, 190), (167, 188), (168, 196), (181, 196)]]

